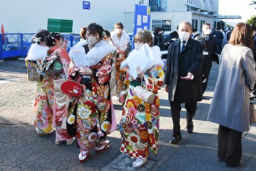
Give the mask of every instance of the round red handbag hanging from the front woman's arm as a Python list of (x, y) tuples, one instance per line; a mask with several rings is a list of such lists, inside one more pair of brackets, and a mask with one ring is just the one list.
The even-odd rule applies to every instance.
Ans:
[(69, 80), (69, 78), (61, 84), (61, 91), (70, 96), (80, 96), (82, 94), (82, 85), (76, 81)]

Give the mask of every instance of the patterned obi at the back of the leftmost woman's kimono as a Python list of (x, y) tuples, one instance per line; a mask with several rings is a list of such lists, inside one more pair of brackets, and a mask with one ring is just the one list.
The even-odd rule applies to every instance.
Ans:
[(36, 61), (26, 61), (26, 65), (28, 81), (39, 81), (41, 74)]

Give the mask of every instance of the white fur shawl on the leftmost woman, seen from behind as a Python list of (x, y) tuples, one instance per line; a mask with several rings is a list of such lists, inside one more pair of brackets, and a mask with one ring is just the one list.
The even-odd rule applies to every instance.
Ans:
[(41, 46), (37, 43), (32, 44), (29, 48), (27, 60), (38, 60), (47, 56), (48, 47)]

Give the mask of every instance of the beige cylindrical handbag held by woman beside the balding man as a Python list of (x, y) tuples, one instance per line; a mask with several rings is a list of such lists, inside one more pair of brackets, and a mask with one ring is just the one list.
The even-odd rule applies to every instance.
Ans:
[[(154, 82), (152, 80), (152, 84), (153, 84), (153, 88), (152, 91), (154, 90)], [(146, 103), (153, 103), (154, 99), (155, 99), (155, 94), (152, 93), (152, 91), (148, 91), (147, 89), (141, 87), (141, 86), (136, 86), (134, 88), (134, 92), (135, 94), (142, 99), (143, 101), (145, 101)]]

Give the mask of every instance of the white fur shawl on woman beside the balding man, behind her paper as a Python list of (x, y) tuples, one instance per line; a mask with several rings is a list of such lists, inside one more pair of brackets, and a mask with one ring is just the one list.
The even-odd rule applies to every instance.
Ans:
[[(153, 46), (150, 48), (153, 54), (153, 61), (150, 63), (150, 65), (147, 66), (146, 70), (151, 69), (153, 66), (161, 66), (163, 68), (164, 63), (161, 59), (161, 53), (160, 53), (160, 48), (158, 46)], [(133, 55), (133, 53), (136, 53), (136, 49), (134, 49), (130, 54)], [(127, 57), (127, 59), (129, 58), (129, 56)], [(121, 68), (124, 68), (127, 66), (127, 59), (125, 59), (122, 63), (121, 63)]]

